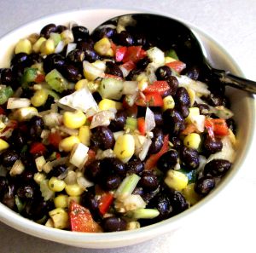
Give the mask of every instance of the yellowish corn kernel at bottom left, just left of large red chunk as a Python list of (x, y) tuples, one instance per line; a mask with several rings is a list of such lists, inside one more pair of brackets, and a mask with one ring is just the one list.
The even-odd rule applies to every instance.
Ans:
[(49, 211), (49, 216), (55, 228), (63, 229), (69, 226), (69, 217), (67, 211), (63, 208), (56, 208)]

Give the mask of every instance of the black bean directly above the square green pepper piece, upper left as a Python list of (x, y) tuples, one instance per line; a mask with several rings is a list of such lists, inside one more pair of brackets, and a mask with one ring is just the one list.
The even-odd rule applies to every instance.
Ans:
[(53, 69), (61, 71), (66, 64), (66, 59), (60, 54), (47, 55), (44, 59), (44, 72), (51, 72)]

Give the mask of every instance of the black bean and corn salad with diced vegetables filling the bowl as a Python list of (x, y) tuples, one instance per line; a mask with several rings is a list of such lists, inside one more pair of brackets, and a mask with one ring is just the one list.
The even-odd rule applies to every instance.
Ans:
[(224, 88), (118, 22), (44, 26), (0, 69), (0, 201), (32, 221), (114, 232), (176, 216), (235, 157)]

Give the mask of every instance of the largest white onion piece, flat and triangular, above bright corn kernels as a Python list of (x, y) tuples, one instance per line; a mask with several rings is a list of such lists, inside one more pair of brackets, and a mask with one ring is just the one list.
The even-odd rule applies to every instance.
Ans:
[(71, 95), (62, 97), (58, 102), (82, 112), (87, 112), (90, 108), (93, 108), (96, 111), (98, 110), (97, 103), (87, 87), (79, 89)]

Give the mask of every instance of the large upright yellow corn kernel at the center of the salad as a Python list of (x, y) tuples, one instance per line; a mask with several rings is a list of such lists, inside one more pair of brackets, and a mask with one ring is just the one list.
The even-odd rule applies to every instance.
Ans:
[(135, 142), (132, 135), (120, 135), (113, 147), (113, 153), (124, 163), (128, 162), (135, 151)]

